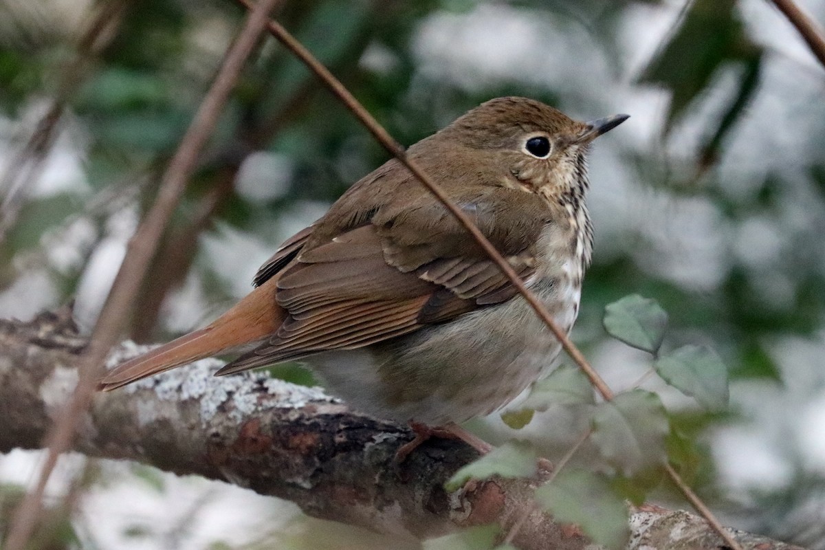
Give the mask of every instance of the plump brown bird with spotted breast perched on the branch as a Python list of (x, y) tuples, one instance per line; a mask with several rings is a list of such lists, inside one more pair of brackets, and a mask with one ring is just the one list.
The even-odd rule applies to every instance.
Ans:
[[(564, 331), (590, 263), (587, 149), (628, 115), (577, 122), (522, 97), (487, 101), (408, 156), (540, 298)], [(247, 350), (216, 374), (305, 360), (358, 410), (419, 436), (488, 414), (549, 373), (560, 345), (465, 228), (398, 160), (290, 237), (257, 287), (208, 327), (120, 364), (111, 390)], [(441, 432), (439, 432), (441, 435)]]

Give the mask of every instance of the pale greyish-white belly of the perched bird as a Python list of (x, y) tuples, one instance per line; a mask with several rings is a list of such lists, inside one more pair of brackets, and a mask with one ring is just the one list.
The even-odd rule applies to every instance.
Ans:
[[(554, 280), (533, 280), (529, 286), (569, 332), (581, 279), (567, 262), (560, 271)], [(549, 373), (560, 349), (544, 322), (516, 297), (379, 346), (328, 352), (309, 362), (330, 392), (357, 410), (442, 425), (507, 404)]]

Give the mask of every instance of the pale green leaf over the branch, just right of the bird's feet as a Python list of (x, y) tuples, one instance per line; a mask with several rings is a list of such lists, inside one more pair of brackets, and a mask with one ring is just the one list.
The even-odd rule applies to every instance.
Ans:
[(539, 457), (532, 445), (523, 441), (509, 441), (497, 449), (469, 463), (453, 474), (444, 484), (447, 491), (455, 491), (469, 479), (499, 477), (530, 477), (535, 474)]

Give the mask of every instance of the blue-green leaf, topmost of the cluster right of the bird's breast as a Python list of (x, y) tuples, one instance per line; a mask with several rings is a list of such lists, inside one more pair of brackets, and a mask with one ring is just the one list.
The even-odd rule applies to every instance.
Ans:
[(628, 346), (656, 353), (665, 336), (667, 313), (656, 300), (631, 294), (607, 304), (604, 325), (610, 336)]

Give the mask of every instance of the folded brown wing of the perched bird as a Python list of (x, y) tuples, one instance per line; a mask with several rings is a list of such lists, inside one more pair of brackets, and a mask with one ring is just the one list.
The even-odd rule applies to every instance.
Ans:
[[(548, 221), (546, 204), (519, 190), (491, 188), (478, 195), (455, 200), (516, 272), (529, 277), (535, 241)], [(266, 343), (218, 374), (368, 346), (516, 294), (441, 204), (425, 195), (416, 203), (412, 215), (410, 209), (379, 210), (369, 224), (304, 247), (277, 281), (285, 322)], [(441, 210), (443, 216), (433, 217)], [(514, 216), (520, 221), (514, 223)], [(418, 234), (426, 230), (430, 239)], [(266, 266), (277, 263), (273, 259)]]

